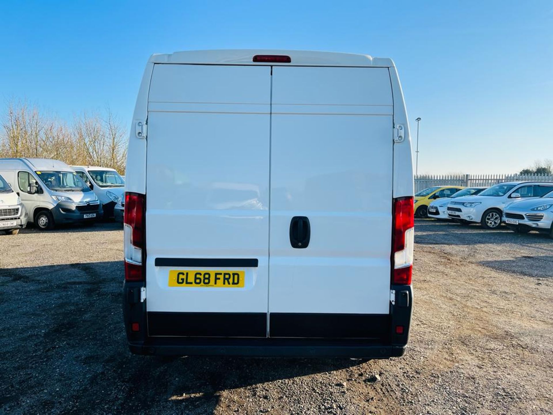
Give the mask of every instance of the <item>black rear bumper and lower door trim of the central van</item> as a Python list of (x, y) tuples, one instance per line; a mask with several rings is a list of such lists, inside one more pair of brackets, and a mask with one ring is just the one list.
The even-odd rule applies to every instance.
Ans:
[(387, 359), (402, 356), (409, 339), (410, 286), (392, 286), (395, 304), (389, 314), (272, 313), (268, 330), (265, 313), (147, 312), (147, 300), (140, 302), (142, 286), (123, 284), (128, 345), (139, 355)]

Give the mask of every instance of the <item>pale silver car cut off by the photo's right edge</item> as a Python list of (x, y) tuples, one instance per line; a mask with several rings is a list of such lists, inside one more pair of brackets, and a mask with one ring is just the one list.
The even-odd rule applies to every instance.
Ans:
[(505, 206), (503, 222), (518, 234), (539, 231), (553, 238), (553, 191), (538, 199), (520, 200)]

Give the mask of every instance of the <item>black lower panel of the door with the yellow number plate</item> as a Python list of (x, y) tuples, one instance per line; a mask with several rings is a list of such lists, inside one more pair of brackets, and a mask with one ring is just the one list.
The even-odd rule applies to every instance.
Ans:
[(148, 335), (267, 337), (267, 313), (148, 312)]

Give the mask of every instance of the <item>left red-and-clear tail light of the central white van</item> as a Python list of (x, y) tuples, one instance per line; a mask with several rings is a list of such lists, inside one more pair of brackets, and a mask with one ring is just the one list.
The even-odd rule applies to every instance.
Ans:
[(126, 281), (144, 281), (145, 210), (144, 195), (139, 193), (125, 194), (123, 232)]

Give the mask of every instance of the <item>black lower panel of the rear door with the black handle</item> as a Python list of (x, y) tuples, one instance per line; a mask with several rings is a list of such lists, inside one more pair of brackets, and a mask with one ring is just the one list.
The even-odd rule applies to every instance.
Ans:
[(389, 338), (389, 314), (270, 313), (269, 337)]

